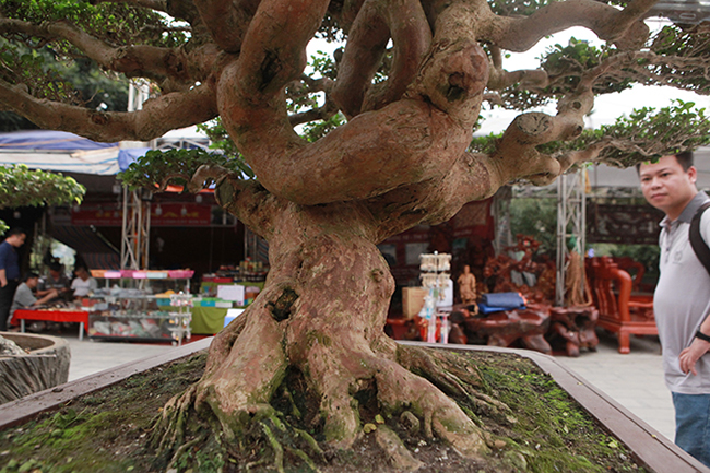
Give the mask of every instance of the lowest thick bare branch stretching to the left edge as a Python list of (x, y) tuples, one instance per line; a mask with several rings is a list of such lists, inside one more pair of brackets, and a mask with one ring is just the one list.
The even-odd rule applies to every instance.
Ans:
[(130, 113), (96, 111), (38, 99), (21, 85), (0, 81), (0, 104), (48, 130), (70, 131), (95, 141), (149, 141), (176, 128), (202, 123), (217, 116), (214, 92), (201, 85), (171, 93)]

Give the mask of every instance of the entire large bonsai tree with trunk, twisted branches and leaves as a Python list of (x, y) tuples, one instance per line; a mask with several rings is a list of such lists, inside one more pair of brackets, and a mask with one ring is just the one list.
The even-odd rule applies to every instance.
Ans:
[[(506, 406), (477, 392), (475, 370), (384, 335), (394, 281), (376, 245), (445, 222), (513, 180), (544, 185), (579, 163), (628, 166), (706, 142), (702, 111), (683, 103), (584, 132), (597, 94), (634, 83), (708, 92), (706, 26), (650, 37), (643, 19), (654, 0), (618, 3), (0, 2), (4, 108), (97, 141), (147, 141), (216, 118), (233, 140), (232, 155), (151, 154), (128, 176), (133, 185), (214, 182), (218, 203), (270, 244), (264, 289), (217, 334), (202, 379), (163, 411), (154, 434), (166, 462), (205, 437), (234, 452), (248, 434), (263, 438), (279, 469), (286, 453), (312, 465), (320, 447), (284, 422), (277, 393), (295, 404), (308, 395), (311, 409), (297, 417), (321, 446), (351, 448), (378, 412), (415, 417), (426, 437), (463, 457), (489, 451), (474, 414), (507, 415)], [(606, 45), (572, 42), (540, 69), (504, 69), (506, 51), (571, 26)], [(322, 76), (304, 73), (313, 37), (345, 45), (320, 59)], [(144, 78), (153, 96), (133, 113), (86, 108), (60, 69), (16, 55), (17, 42)], [(520, 110), (555, 102), (557, 114), (522, 113), (501, 137), (472, 143), (484, 100)], [(296, 133), (301, 123), (309, 139)], [(416, 468), (397, 436), (377, 431), (395, 465)]]

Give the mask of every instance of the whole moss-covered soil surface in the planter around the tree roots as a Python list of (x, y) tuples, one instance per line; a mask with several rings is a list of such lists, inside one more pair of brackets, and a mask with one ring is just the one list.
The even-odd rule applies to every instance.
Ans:
[[(489, 433), (492, 454), (485, 462), (465, 460), (447, 445), (425, 439), (404, 416), (384, 418), (362, 411), (364, 431), (380, 426), (397, 433), (424, 463), (418, 472), (646, 471), (619, 440), (530, 360), (517, 355), (447, 353), (447, 357), (460, 357), (455, 362), (460, 366), (475, 366), (483, 383), (477, 389), (507, 404), (510, 411), (486, 413), (483, 409), (470, 413)], [(40, 414), (22, 426), (0, 431), (0, 473), (165, 471), (165, 464), (149, 447), (154, 418), (173, 395), (200, 379), (206, 355), (200, 354), (135, 375)], [(289, 392), (299, 382), (297, 377), (287, 379)], [(289, 422), (293, 404), (307, 402), (304, 400), (281, 397), (274, 399), (273, 405)], [(362, 400), (362, 404), (367, 406), (367, 400)], [(311, 435), (318, 440), (317, 428)], [(347, 452), (323, 448), (322, 454), (312, 459), (315, 466), (333, 473), (390, 471), (375, 438), (372, 431), (364, 434)], [(274, 471), (270, 460), (273, 452), (263, 440), (242, 445), (240, 451), (224, 456), (194, 445), (184, 452), (190, 461), (178, 462), (171, 472)], [(287, 472), (311, 471), (306, 462), (287, 460)]]

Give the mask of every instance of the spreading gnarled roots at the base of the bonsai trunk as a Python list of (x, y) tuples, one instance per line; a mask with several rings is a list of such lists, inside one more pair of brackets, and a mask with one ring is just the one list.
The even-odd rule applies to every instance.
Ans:
[[(269, 403), (253, 402), (255, 397), (242, 391), (229, 398), (239, 404), (215, 410), (214, 400), (205, 395), (205, 389), (220, 382), (214, 378), (173, 398), (151, 435), (164, 464), (173, 468), (190, 459), (201, 442), (214, 440), (225, 457), (239, 459), (247, 471), (285, 473), (298, 465), (299, 471), (318, 472), (332, 454), (340, 458), (343, 446), (372, 435), (393, 470), (413, 472), (423, 463), (405, 439), (410, 445), (422, 436), (427, 444), (439, 439), (461, 457), (478, 461), (497, 449), (480, 415), (508, 425), (516, 422), (506, 404), (480, 392), (484, 382), (475, 366), (457, 364), (448, 355), (400, 347), (395, 359), (372, 352), (359, 352), (355, 359), (352, 352), (321, 348), (327, 350), (313, 359), (328, 355), (327, 363), (315, 369), (311, 359), (313, 369), (303, 373), (291, 360)], [(339, 374), (335, 380), (321, 382), (320, 376), (332, 373)], [(341, 436), (329, 437), (333, 426), (343, 428)]]

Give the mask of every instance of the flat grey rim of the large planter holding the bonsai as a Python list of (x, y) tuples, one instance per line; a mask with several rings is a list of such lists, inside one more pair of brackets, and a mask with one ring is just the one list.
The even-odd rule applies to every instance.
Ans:
[[(0, 406), (0, 428), (16, 425), (34, 415), (58, 406), (79, 395), (119, 382), (134, 374), (151, 369), (193, 353), (206, 350), (212, 339), (203, 339), (167, 352), (161, 356), (129, 363), (117, 368), (79, 379)], [(710, 469), (688, 456), (628, 410), (610, 399), (582, 377), (558, 364), (552, 356), (525, 351), (477, 345), (440, 345), (421, 342), (401, 342), (433, 348), (454, 351), (485, 351), (514, 353), (535, 363), (579, 402), (610, 433), (634, 452), (636, 461), (656, 473), (708, 472)]]

